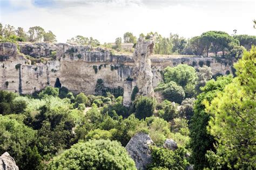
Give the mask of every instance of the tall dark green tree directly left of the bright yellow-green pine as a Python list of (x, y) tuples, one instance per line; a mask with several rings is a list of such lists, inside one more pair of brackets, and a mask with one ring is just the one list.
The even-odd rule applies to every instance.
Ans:
[(232, 76), (220, 76), (217, 80), (210, 80), (205, 87), (201, 88), (202, 93), (197, 96), (194, 104), (194, 115), (190, 122), (190, 147), (191, 163), (195, 169), (209, 167), (209, 162), (205, 158), (207, 151), (215, 151), (214, 137), (208, 133), (206, 127), (210, 120), (210, 114), (205, 111), (205, 101), (211, 102), (218, 91), (224, 90), (225, 86), (232, 81)]

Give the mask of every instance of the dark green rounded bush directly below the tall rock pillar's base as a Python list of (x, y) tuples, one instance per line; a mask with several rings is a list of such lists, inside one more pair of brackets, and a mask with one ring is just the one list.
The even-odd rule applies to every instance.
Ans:
[(156, 101), (153, 98), (146, 96), (138, 96), (133, 102), (133, 110), (135, 116), (139, 119), (150, 117), (156, 108)]

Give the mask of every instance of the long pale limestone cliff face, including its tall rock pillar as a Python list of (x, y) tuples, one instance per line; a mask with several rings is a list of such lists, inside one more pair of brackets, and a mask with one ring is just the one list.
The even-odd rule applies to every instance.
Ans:
[(21, 43), (17, 50), (15, 44), (0, 43), (0, 89), (31, 94), (55, 86), (59, 79), (74, 93), (95, 94), (97, 80), (102, 79), (105, 87), (123, 87), (129, 105), (134, 86), (138, 86), (139, 94), (153, 95), (152, 89), (163, 81), (167, 66), (184, 63), (198, 68), (203, 63), (210, 65), (213, 74), (225, 75), (227, 70), (232, 73), (230, 65), (213, 58), (154, 56), (150, 55), (152, 47), (153, 41), (139, 40), (133, 55), (112, 55), (90, 46)]

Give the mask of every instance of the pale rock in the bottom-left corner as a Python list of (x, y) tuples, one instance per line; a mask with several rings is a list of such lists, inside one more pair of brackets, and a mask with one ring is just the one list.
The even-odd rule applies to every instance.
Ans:
[(15, 163), (14, 158), (12, 158), (8, 152), (0, 157), (0, 170), (18, 170), (18, 166)]

